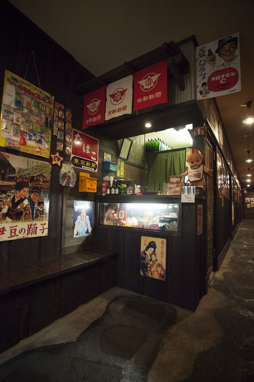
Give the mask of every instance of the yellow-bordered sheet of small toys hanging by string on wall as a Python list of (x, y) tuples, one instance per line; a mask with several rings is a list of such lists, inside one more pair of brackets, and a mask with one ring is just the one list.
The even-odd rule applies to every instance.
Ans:
[(5, 71), (0, 146), (49, 158), (54, 98)]

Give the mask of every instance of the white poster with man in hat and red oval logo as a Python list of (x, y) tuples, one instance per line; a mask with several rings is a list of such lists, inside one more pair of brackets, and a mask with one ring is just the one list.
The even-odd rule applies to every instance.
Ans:
[(239, 33), (196, 48), (196, 99), (241, 91)]

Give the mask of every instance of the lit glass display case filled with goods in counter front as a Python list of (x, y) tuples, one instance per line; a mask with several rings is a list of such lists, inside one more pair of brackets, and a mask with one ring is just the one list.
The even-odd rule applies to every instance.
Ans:
[[(122, 198), (122, 200), (120, 199)], [(178, 235), (179, 202), (168, 197), (148, 198), (104, 197), (98, 202), (98, 223), (109, 227), (125, 227), (168, 232)]]

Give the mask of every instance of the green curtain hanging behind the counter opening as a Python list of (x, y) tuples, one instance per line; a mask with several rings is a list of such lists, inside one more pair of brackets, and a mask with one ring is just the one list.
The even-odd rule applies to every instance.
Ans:
[(185, 171), (186, 149), (150, 153), (147, 155), (147, 190), (155, 192), (159, 189), (163, 193), (163, 183), (168, 183), (170, 175), (180, 175)]

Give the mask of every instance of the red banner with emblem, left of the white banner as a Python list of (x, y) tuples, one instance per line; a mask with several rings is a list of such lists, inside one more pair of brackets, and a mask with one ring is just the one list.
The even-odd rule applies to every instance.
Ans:
[(82, 129), (105, 121), (106, 87), (96, 89), (84, 95), (84, 113)]

